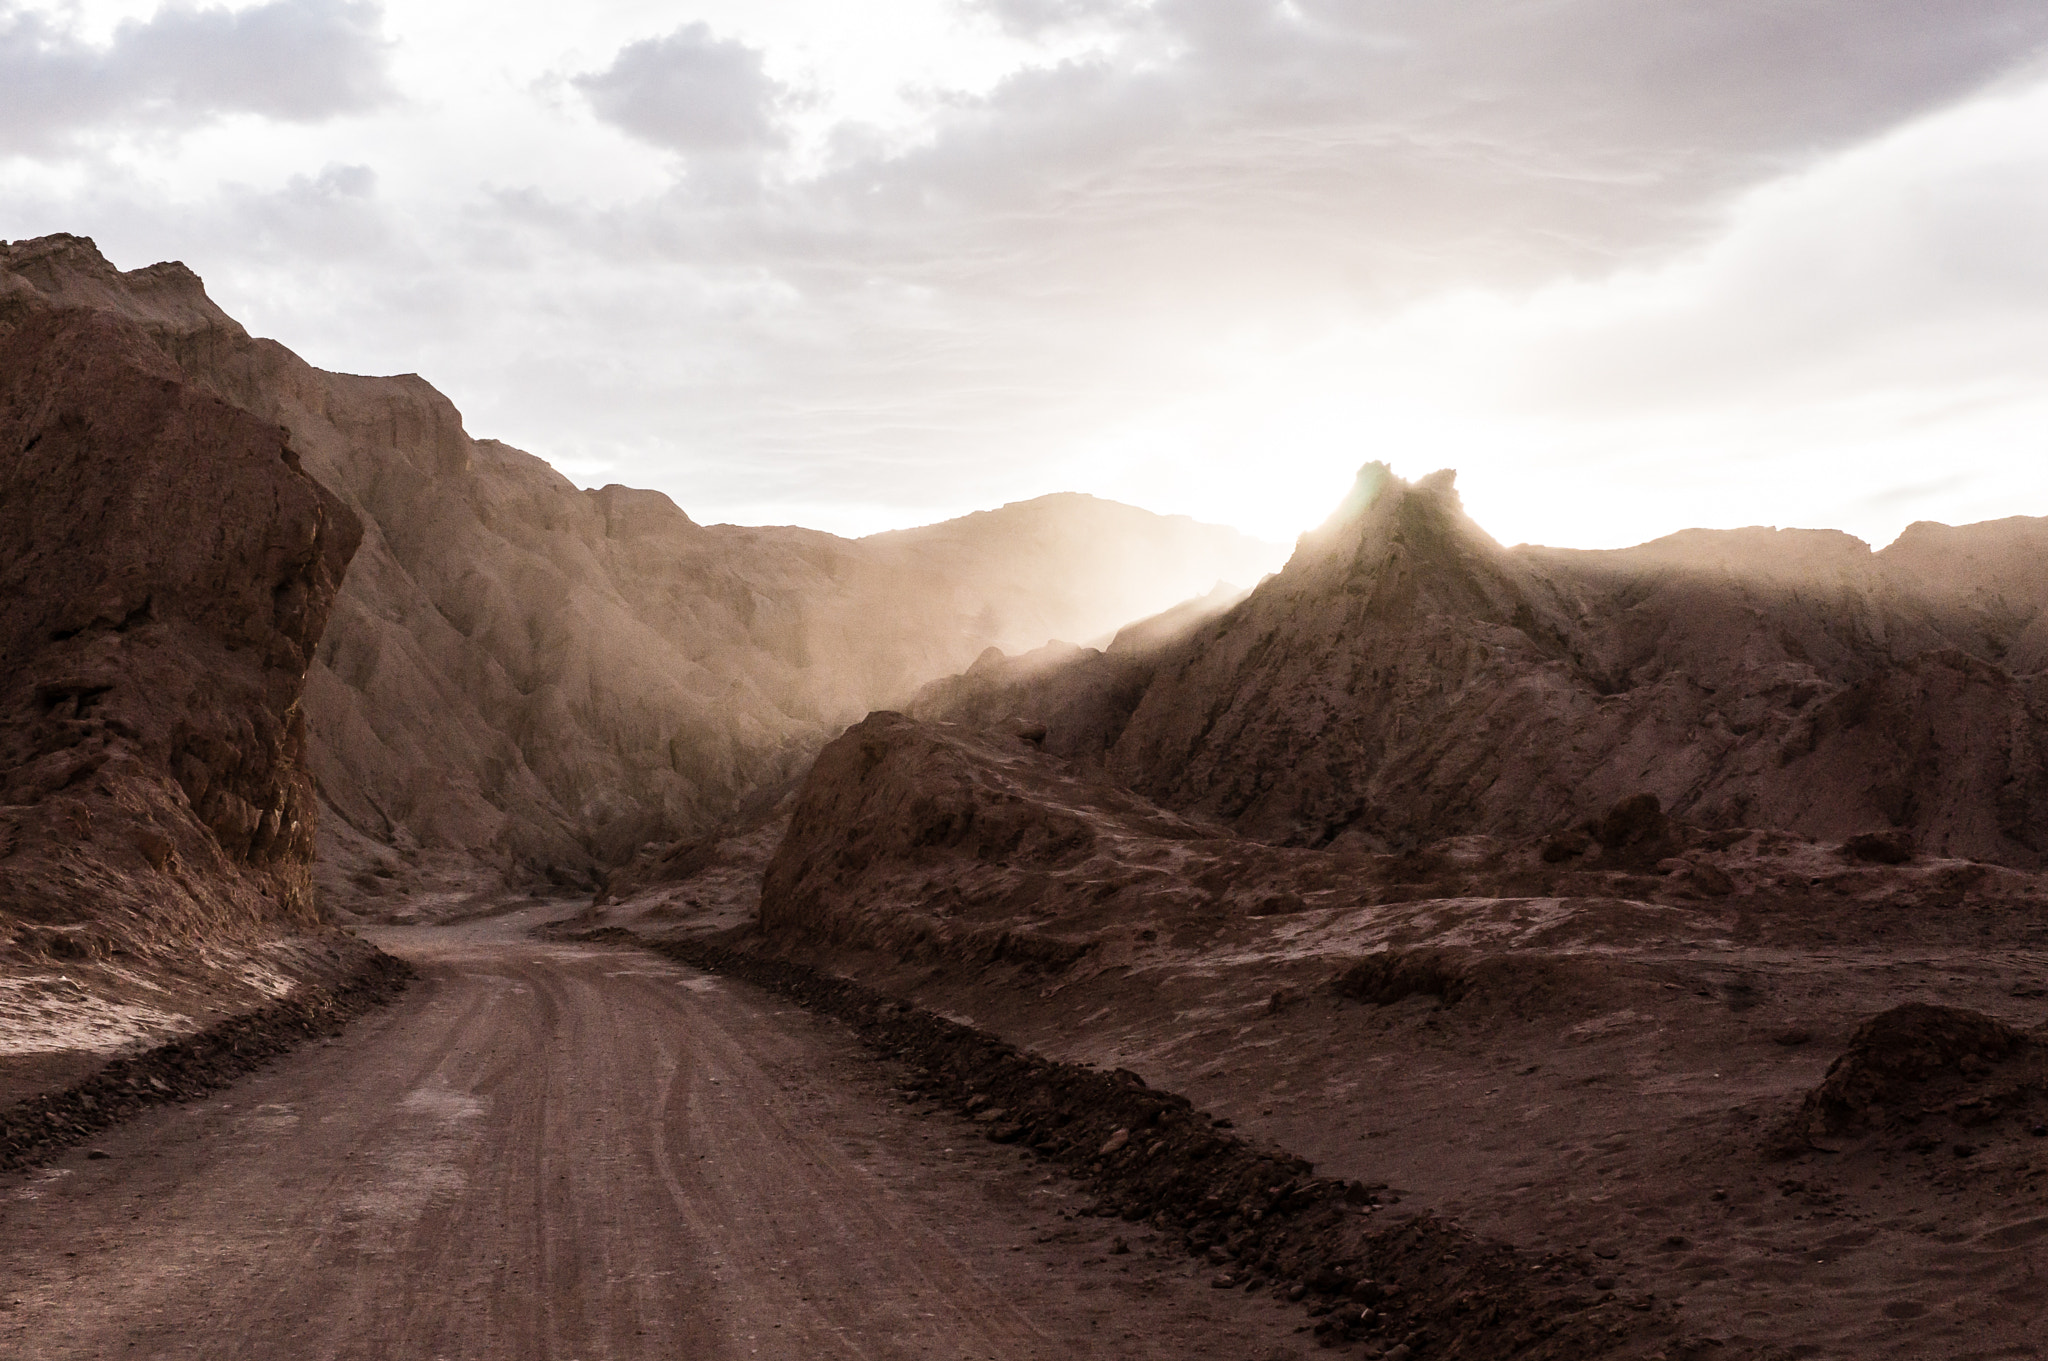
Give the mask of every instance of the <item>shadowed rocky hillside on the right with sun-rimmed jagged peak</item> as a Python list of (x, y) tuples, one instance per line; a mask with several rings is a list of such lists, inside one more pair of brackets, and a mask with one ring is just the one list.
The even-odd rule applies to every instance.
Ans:
[(1227, 612), (985, 657), (913, 712), (1047, 747), (1282, 845), (1532, 835), (1651, 794), (1690, 823), (1896, 831), (2048, 864), (2048, 520), (1503, 548), (1452, 475), (1372, 465)]

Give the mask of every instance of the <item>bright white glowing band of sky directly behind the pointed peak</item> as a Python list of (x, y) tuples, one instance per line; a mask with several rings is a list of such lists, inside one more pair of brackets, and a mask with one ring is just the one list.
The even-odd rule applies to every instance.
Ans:
[(1067, 475), (1266, 538), (1317, 524), (1372, 458), (1458, 469), (1503, 542), (1774, 522), (1882, 546), (1919, 518), (2044, 514), (2048, 297), (1958, 301), (1950, 278), (2013, 276), (1987, 256), (2048, 229), (2042, 184), (2048, 84), (1757, 190), (1659, 268), (1221, 348), (1208, 391)]

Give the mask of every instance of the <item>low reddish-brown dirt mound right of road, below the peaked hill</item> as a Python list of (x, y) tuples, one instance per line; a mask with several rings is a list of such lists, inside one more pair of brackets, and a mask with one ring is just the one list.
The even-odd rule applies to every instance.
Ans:
[[(762, 878), (762, 927), (901, 960), (1044, 970), (1087, 960), (1098, 970), (1143, 966), (1161, 952), (1282, 950), (1276, 933), (1309, 939), (1303, 931), (1333, 931), (1331, 921), (1352, 915), (1366, 937), (1337, 933), (1319, 948), (1430, 948), (1427, 931), (1389, 935), (1397, 915), (1366, 915), (1382, 905), (1464, 903), (1458, 913), (1503, 921), (1559, 913), (1573, 923), (1567, 943), (1606, 931), (1604, 921), (1616, 923), (1614, 943), (1636, 943), (1667, 929), (1653, 925), (1657, 911), (1677, 909), (1710, 911), (1724, 931), (1722, 913), (1733, 911), (1751, 923), (1745, 929), (1792, 943), (1833, 929), (1823, 919), (1847, 909), (1905, 913), (1886, 917), (1894, 933), (1939, 933), (1929, 907), (2019, 903), (2034, 890), (2032, 876), (1958, 862), (1845, 868), (1833, 845), (1692, 827), (1655, 796), (1630, 796), (1548, 837), (1448, 837), (1399, 853), (1278, 847), (1176, 815), (1100, 767), (1055, 755), (1057, 731), (1012, 727), (989, 733), (879, 712), (829, 743), (788, 804), (788, 833)], [(688, 882), (707, 847), (651, 858), (645, 874), (670, 864), (670, 880)], [(627, 890), (637, 882), (623, 880)], [(1339, 917), (1286, 927), (1305, 913)], [(1540, 931), (1499, 939), (1518, 939), (1520, 954), (1550, 950)], [(1464, 939), (1460, 950), (1473, 943), (1481, 948), (1464, 968), (1493, 978), (1495, 946)], [(1495, 982), (1501, 997), (1524, 986), (1505, 974)]]

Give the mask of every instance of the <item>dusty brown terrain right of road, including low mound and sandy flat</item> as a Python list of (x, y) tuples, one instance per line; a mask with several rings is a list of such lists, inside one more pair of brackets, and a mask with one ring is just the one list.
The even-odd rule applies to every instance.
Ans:
[(780, 839), (588, 921), (852, 974), (1409, 1210), (1589, 1253), (1677, 1308), (1667, 1355), (2036, 1355), (2042, 874), (1645, 798), (1546, 835), (1280, 847), (1010, 729), (870, 716)]

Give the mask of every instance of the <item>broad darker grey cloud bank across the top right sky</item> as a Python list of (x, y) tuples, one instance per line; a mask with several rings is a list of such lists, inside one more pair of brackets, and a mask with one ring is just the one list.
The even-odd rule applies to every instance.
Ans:
[[(1008, 27), (1073, 8), (985, 0)], [(950, 272), (952, 231), (983, 264), (1028, 239), (1024, 293), (1047, 268), (1124, 293), (1198, 270), (1253, 299), (1530, 282), (1698, 239), (1735, 192), (2048, 39), (2036, 0), (1085, 8), (1114, 43), (936, 100), (918, 145), (834, 168), (793, 209), (901, 246), (874, 260), (891, 268)]]

